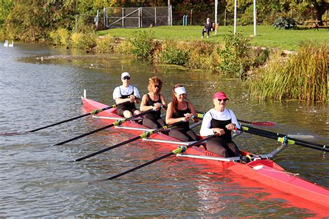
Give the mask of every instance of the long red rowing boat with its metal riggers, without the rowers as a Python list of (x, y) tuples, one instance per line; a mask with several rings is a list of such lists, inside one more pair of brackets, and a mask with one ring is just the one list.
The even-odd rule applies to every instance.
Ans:
[[(94, 110), (107, 107), (103, 103), (90, 100), (85, 96), (82, 97), (83, 107), (85, 110)], [(100, 112), (100, 119), (109, 119), (110, 122), (113, 122), (117, 119), (123, 119), (121, 116), (116, 114), (116, 109), (108, 109), (106, 111)], [(149, 128), (144, 127), (143, 125), (138, 124), (135, 121), (127, 121), (124, 123), (124, 126), (120, 125), (116, 128), (124, 128), (133, 133), (145, 132), (150, 130)], [(148, 139), (143, 139), (144, 141), (153, 141), (160, 143), (160, 146), (167, 148), (169, 150), (174, 150), (177, 146), (180, 145), (189, 145), (191, 142), (182, 142), (169, 137), (163, 133), (155, 133)], [(308, 182), (301, 177), (298, 177), (297, 174), (289, 173), (285, 171), (284, 168), (276, 164), (273, 160), (273, 157), (279, 152), (287, 148), (287, 144), (282, 143), (279, 148), (273, 150), (273, 152), (267, 155), (253, 155), (250, 152), (242, 151), (243, 157), (253, 157), (251, 161), (244, 162), (244, 159), (241, 157), (230, 157), (224, 158), (218, 155), (213, 154), (207, 150), (203, 150), (198, 147), (188, 148), (187, 151), (183, 154), (178, 154), (178, 157), (186, 157), (189, 159), (198, 159), (210, 162), (211, 164), (223, 168), (225, 170), (231, 170), (239, 175), (244, 175), (256, 181), (272, 186), (275, 189), (284, 191), (292, 195), (296, 195), (299, 198), (321, 204), (323, 207), (329, 207), (329, 190), (323, 186), (319, 186), (315, 183)]]

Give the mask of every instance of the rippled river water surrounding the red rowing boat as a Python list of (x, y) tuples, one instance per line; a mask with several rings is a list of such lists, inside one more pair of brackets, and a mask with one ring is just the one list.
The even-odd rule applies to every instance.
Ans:
[[(43, 60), (41, 59), (43, 57)], [(250, 100), (238, 79), (182, 67), (151, 65), (121, 55), (90, 55), (40, 44), (0, 46), (0, 217), (285, 217), (329, 216), (329, 209), (287, 195), (247, 177), (191, 159), (164, 159), (112, 181), (115, 175), (169, 152), (136, 141), (79, 163), (68, 161), (134, 137), (119, 130), (98, 132), (52, 146), (103, 123), (84, 117), (33, 133), (22, 133), (83, 113), (80, 96), (112, 104), (112, 90), (129, 71), (131, 84), (146, 93), (148, 78), (165, 82), (167, 102), (177, 82), (196, 109), (212, 107), (214, 91), (225, 91), (238, 119), (275, 121), (259, 127), (328, 145), (328, 105), (304, 101)], [(115, 132), (115, 134), (110, 134)], [(196, 129), (196, 132), (198, 130)], [(258, 154), (279, 143), (242, 134), (239, 148)], [(325, 153), (289, 146), (275, 159), (292, 173), (329, 186)]]

